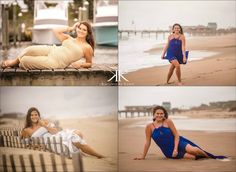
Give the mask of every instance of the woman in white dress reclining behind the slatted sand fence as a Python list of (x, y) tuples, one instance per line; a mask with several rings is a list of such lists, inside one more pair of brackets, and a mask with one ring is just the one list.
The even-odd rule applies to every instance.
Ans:
[(70, 153), (81, 150), (82, 152), (97, 158), (105, 158), (85, 142), (83, 135), (79, 130), (66, 129), (58, 131), (52, 123), (40, 118), (40, 113), (35, 107), (30, 108), (27, 112), (25, 127), (22, 130), (21, 137), (62, 137), (62, 144), (68, 147)]

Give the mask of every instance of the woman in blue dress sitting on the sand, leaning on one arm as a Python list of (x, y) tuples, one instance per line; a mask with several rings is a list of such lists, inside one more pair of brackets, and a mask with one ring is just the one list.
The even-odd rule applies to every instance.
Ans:
[(168, 119), (168, 113), (162, 106), (153, 109), (153, 122), (148, 124), (145, 129), (146, 143), (143, 154), (135, 160), (145, 159), (148, 149), (151, 145), (151, 138), (160, 147), (167, 158), (173, 159), (200, 159), (213, 158), (224, 159), (225, 156), (215, 156), (201, 149), (188, 139), (179, 136), (171, 119)]

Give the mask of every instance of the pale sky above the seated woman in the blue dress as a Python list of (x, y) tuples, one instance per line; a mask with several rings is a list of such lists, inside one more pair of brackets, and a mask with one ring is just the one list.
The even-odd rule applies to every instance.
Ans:
[(202, 103), (236, 100), (236, 87), (119, 87), (119, 110), (131, 105), (161, 105), (189, 108)]

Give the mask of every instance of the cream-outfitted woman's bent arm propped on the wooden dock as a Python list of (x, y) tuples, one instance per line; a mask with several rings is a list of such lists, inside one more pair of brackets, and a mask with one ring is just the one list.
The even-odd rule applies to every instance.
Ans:
[(85, 62), (76, 61), (71, 63), (70, 66), (76, 69), (92, 67), (93, 49), (91, 46), (84, 48), (84, 57), (86, 59)]

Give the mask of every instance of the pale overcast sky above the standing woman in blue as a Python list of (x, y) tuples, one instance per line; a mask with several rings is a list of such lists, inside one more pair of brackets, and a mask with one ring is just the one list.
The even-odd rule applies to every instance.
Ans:
[[(134, 10), (135, 9), (135, 10)], [(119, 1), (119, 29), (169, 29), (217, 22), (218, 28), (236, 27), (236, 1)]]

